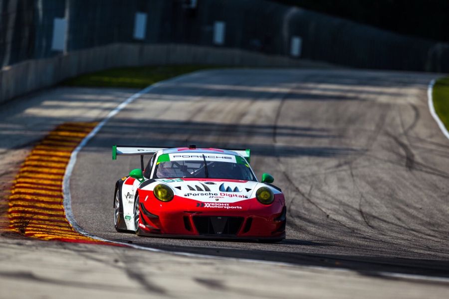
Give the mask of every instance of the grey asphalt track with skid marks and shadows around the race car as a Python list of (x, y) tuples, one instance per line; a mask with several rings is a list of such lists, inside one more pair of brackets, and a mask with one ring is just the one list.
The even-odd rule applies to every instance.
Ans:
[[(75, 220), (109, 240), (297, 265), (449, 277), (449, 141), (427, 106), (435, 75), (213, 70), (143, 95), (78, 154)], [(112, 145), (250, 148), (288, 207), (280, 244), (137, 237), (113, 226)]]

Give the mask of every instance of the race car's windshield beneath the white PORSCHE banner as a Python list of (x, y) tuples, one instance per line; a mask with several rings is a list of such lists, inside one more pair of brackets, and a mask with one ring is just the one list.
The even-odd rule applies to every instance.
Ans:
[[(256, 180), (246, 161), (238, 157), (234, 161), (214, 161), (210, 156), (197, 155), (198, 160), (161, 161), (155, 169), (155, 178), (225, 178)], [(203, 159), (201, 159), (203, 158)], [(241, 159), (240, 159), (241, 158)], [(164, 158), (162, 158), (164, 160)], [(206, 163), (205, 163), (206, 162)], [(205, 166), (206, 165), (206, 166)]]

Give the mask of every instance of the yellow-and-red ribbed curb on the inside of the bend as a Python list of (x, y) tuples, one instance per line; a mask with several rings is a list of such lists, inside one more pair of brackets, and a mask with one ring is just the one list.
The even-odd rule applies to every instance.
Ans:
[(72, 228), (65, 217), (62, 194), (62, 179), (71, 152), (96, 125), (64, 123), (31, 150), (8, 196), (9, 230), (42, 240), (105, 243)]

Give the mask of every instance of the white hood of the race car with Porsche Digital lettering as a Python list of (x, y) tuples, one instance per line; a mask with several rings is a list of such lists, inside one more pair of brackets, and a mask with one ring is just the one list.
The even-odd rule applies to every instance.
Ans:
[(202, 202), (220, 200), (226, 203), (252, 198), (255, 196), (255, 190), (265, 185), (256, 181), (191, 178), (156, 179), (154, 186), (157, 183), (169, 185), (175, 195), (180, 197)]

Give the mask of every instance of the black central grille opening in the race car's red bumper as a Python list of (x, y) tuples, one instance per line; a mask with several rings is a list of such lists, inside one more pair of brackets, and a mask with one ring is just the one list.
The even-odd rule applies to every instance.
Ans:
[(193, 221), (200, 235), (236, 235), (243, 217), (194, 216)]

